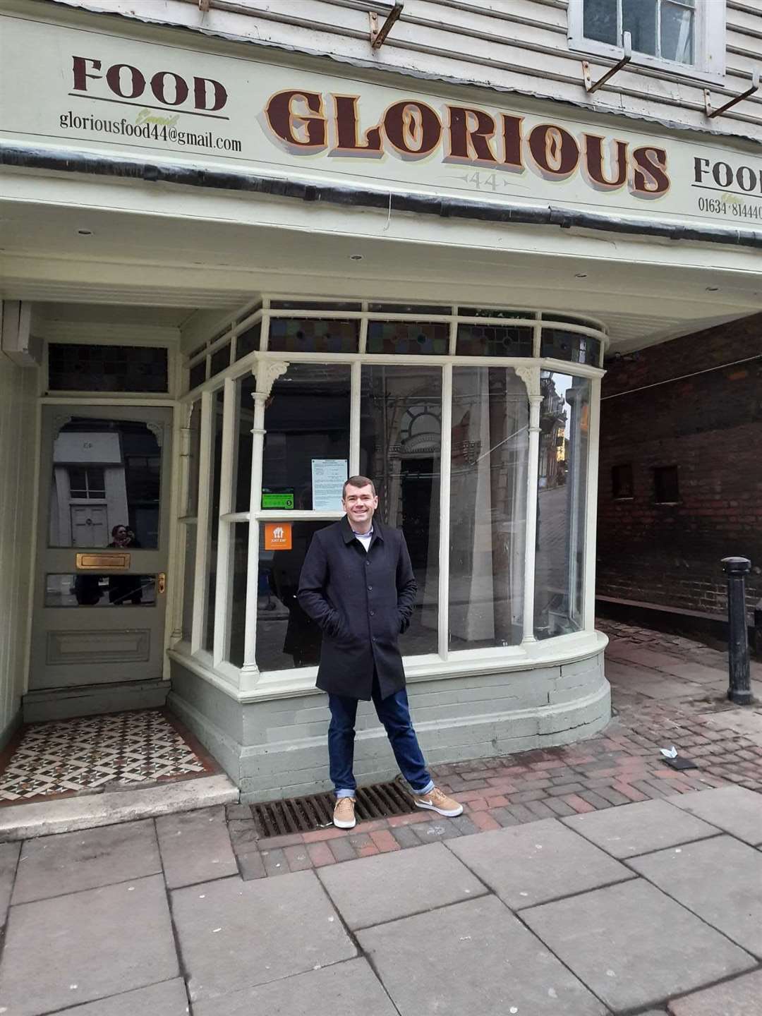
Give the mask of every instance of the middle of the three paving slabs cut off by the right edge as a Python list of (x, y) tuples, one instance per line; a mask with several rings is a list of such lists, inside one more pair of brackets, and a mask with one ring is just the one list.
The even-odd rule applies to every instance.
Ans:
[(631, 865), (702, 920), (762, 958), (759, 850), (732, 836), (715, 836), (635, 858)]

